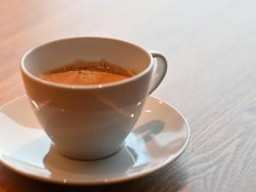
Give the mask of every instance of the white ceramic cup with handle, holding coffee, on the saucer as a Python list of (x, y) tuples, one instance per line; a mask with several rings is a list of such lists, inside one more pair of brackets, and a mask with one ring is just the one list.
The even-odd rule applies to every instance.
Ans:
[[(154, 62), (154, 59), (157, 60)], [(137, 75), (108, 84), (58, 84), (38, 74), (76, 60), (101, 61)], [(166, 74), (163, 55), (113, 38), (65, 38), (29, 50), (21, 74), (32, 110), (62, 154), (80, 160), (108, 157), (122, 147), (143, 104)]]

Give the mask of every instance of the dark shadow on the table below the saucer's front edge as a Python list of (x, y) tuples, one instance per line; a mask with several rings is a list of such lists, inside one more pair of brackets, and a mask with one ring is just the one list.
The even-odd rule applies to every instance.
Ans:
[[(136, 180), (115, 183), (110, 185), (92, 185), (92, 186), (72, 186), (55, 183), (44, 183), (27, 177), (17, 175), (7, 168), (2, 168), (4, 189), (21, 189), (20, 191), (55, 191), (55, 192), (147, 192), (147, 191), (168, 191), (181, 192), (188, 183), (188, 173), (181, 168), (177, 160), (172, 165), (167, 166), (165, 170), (155, 172), (147, 177)], [(157, 182), (156, 182), (157, 181)], [(154, 184), (153, 184), (154, 183)], [(1, 189), (1, 188), (0, 188)], [(3, 190), (4, 191), (4, 190)]]

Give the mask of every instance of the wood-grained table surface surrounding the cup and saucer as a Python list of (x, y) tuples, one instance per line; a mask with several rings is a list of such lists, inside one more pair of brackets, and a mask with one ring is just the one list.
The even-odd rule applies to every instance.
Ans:
[(76, 36), (122, 38), (166, 55), (153, 96), (188, 119), (189, 147), (148, 177), (108, 186), (41, 183), (0, 166), (0, 192), (256, 191), (256, 1), (0, 1), (0, 105), (25, 94), (27, 49)]

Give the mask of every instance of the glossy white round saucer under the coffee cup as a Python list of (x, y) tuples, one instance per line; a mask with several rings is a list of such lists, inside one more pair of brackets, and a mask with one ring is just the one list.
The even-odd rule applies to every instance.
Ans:
[(143, 177), (170, 164), (189, 143), (181, 113), (152, 96), (117, 154), (93, 161), (55, 151), (38, 125), (26, 96), (0, 108), (0, 162), (26, 177), (52, 183), (104, 184)]

